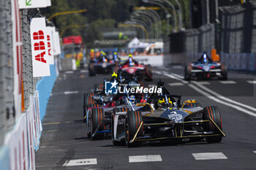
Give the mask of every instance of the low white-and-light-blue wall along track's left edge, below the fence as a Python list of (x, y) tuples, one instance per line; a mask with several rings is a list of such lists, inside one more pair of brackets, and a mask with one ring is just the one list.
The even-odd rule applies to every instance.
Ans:
[(0, 147), (0, 170), (35, 169), (35, 152), (39, 149), (42, 118), (59, 75), (58, 61), (50, 66), (50, 77), (37, 82), (37, 90), (29, 98), (29, 107), (17, 117)]

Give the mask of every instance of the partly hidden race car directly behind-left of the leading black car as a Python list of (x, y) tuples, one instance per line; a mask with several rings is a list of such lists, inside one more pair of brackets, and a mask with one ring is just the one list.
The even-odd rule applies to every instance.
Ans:
[(91, 139), (102, 139), (110, 135), (113, 112), (127, 112), (134, 109), (135, 104), (145, 101), (142, 93), (107, 95), (101, 83), (96, 84), (94, 88), (95, 93), (87, 93), (83, 98), (83, 117)]

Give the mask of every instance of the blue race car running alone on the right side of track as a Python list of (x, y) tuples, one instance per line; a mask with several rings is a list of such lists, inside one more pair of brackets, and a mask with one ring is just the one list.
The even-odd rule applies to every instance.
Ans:
[(197, 62), (189, 63), (184, 68), (184, 80), (211, 79), (212, 77), (227, 80), (227, 66), (212, 61), (206, 53), (203, 53)]

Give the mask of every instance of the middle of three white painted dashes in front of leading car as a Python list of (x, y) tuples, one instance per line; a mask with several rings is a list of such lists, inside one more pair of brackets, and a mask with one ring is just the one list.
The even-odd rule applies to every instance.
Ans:
[(137, 155), (129, 156), (129, 163), (135, 162), (161, 162), (161, 155)]

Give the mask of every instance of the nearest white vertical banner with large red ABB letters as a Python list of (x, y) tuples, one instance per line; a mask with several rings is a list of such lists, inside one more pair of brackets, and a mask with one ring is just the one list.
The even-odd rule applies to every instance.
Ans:
[(33, 77), (50, 76), (48, 31), (45, 18), (32, 18), (30, 23)]

